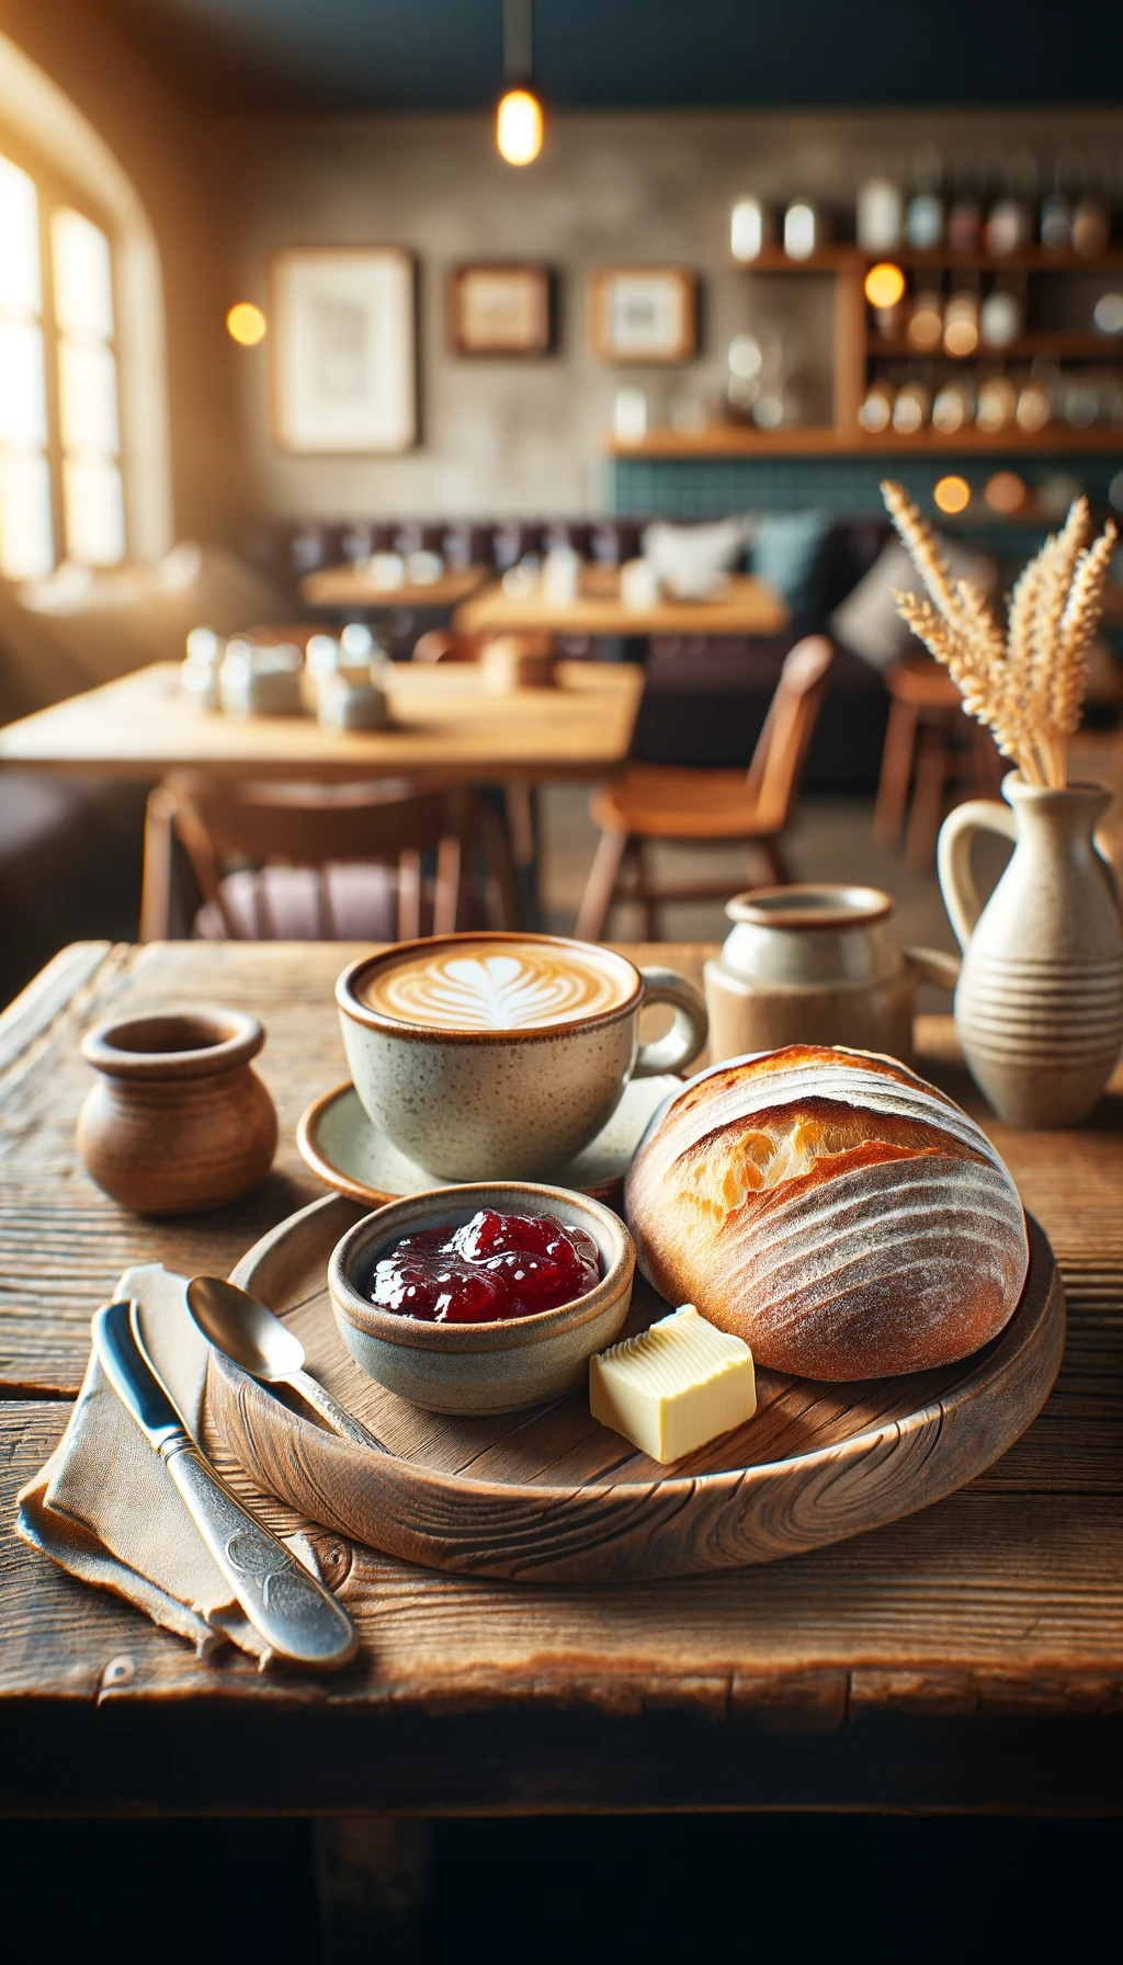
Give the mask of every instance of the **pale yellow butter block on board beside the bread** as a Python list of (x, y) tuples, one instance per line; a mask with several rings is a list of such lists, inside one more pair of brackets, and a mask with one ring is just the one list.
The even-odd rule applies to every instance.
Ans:
[(588, 1409), (651, 1460), (680, 1460), (753, 1417), (753, 1354), (684, 1303), (588, 1360)]

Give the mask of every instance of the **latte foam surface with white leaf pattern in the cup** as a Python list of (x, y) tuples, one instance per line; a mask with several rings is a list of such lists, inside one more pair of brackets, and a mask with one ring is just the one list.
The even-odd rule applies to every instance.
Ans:
[(460, 943), (366, 979), (362, 1000), (399, 1024), (437, 1030), (533, 1030), (616, 1010), (631, 996), (616, 963), (533, 941)]

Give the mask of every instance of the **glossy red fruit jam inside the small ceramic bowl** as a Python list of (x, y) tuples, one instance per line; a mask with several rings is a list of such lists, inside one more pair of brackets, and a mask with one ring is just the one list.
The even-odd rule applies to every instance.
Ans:
[(370, 1301), (427, 1324), (492, 1324), (557, 1311), (600, 1281), (584, 1228), (480, 1208), (462, 1228), (419, 1228), (376, 1263)]

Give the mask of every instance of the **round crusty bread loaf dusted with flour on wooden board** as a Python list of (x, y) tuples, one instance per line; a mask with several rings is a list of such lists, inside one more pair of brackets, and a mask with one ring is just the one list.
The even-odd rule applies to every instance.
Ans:
[(1011, 1317), (1029, 1244), (966, 1112), (891, 1057), (793, 1043), (694, 1079), (625, 1183), (639, 1262), (757, 1364), (885, 1377)]

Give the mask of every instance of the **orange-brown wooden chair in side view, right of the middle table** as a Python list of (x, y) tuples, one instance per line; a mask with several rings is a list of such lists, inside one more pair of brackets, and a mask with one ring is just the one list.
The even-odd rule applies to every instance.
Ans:
[[(602, 939), (616, 900), (639, 902), (643, 933), (655, 941), (665, 902), (728, 900), (738, 892), (736, 880), (653, 888), (643, 867), (649, 839), (698, 845), (743, 841), (767, 880), (791, 880), (779, 843), (795, 810), (832, 660), (834, 648), (824, 635), (810, 635), (791, 650), (747, 776), (738, 770), (629, 764), (616, 784), (594, 792), (590, 810), (600, 825), (600, 845), (576, 918), (582, 941)], [(625, 867), (629, 884), (621, 882)]]

